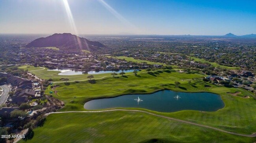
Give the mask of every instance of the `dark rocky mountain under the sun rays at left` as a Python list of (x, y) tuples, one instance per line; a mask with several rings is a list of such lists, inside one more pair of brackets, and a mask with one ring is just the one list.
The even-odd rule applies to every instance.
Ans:
[(102, 43), (89, 41), (70, 33), (53, 34), (48, 37), (38, 38), (25, 47), (58, 47), (63, 50), (89, 50), (95, 51), (99, 47), (105, 47)]

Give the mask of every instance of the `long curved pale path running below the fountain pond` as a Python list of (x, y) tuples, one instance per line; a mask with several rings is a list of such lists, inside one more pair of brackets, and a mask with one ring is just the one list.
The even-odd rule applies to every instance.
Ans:
[(235, 132), (229, 132), (229, 131), (226, 131), (226, 130), (218, 129), (218, 128), (215, 128), (215, 127), (210, 127), (210, 126), (207, 126), (207, 125), (202, 125), (202, 124), (193, 123), (193, 122), (190, 122), (190, 121), (184, 121), (184, 120), (181, 120), (181, 119), (175, 119), (175, 118), (171, 118), (171, 117), (167, 117), (167, 116), (162, 116), (162, 115), (154, 114), (154, 113), (143, 111), (143, 110), (112, 109), (112, 110), (99, 110), (99, 111), (66, 111), (66, 112), (50, 112), (50, 113), (47, 113), (45, 115), (48, 116), (49, 114), (59, 114), (59, 113), (77, 113), (77, 112), (78, 113), (95, 113), (95, 112), (111, 112), (111, 111), (143, 112), (143, 113), (150, 114), (150, 115), (153, 115), (153, 116), (166, 118), (166, 119), (171, 119), (171, 120), (174, 120), (174, 121), (187, 123), (187, 124), (191, 124), (191, 125), (196, 125), (196, 126), (200, 126), (200, 127), (205, 127), (205, 128), (209, 128), (209, 129), (213, 129), (213, 130), (218, 130), (220, 132), (225, 132), (225, 133), (228, 133), (228, 134), (234, 134), (234, 135), (237, 135), (237, 136), (244, 136), (244, 137), (250, 137), (250, 138), (256, 137), (256, 133), (254, 133), (254, 134), (238, 134), (238, 133), (235, 133)]

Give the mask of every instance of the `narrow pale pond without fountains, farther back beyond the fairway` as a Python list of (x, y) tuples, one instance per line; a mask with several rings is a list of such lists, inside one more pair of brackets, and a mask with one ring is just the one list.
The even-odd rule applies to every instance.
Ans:
[[(47, 71), (60, 71), (59, 75), (61, 76), (71, 76), (71, 75), (80, 75), (80, 74), (87, 74), (83, 71), (75, 71), (75, 70), (70, 70), (70, 69), (48, 69)], [(112, 73), (112, 72), (121, 72), (122, 70), (119, 71), (88, 71), (88, 74), (106, 74), (106, 73)], [(123, 72), (133, 72), (134, 69), (130, 70), (123, 70)]]

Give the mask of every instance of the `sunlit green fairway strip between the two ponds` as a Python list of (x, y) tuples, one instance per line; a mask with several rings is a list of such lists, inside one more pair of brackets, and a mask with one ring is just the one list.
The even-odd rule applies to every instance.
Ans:
[[(204, 75), (166, 70), (151, 72), (151, 74), (139, 72), (137, 76), (134, 76), (134, 74), (115, 78), (110, 76), (96, 80), (95, 84), (91, 84), (89, 81), (80, 81), (79, 83), (70, 82), (69, 85), (65, 85), (65, 83), (54, 83), (54, 85), (58, 85), (56, 88), (58, 96), (56, 97), (66, 102), (66, 108), (69, 108), (70, 105), (70, 110), (74, 110), (74, 107), (77, 108), (75, 110), (83, 110), (83, 102), (90, 98), (154, 92), (164, 88), (173, 89), (174, 81), (180, 81), (185, 84), (188, 83), (187, 80), (189, 79), (202, 76)], [(50, 87), (48, 87), (46, 93), (49, 93), (50, 90)], [(72, 107), (73, 105), (74, 107)]]

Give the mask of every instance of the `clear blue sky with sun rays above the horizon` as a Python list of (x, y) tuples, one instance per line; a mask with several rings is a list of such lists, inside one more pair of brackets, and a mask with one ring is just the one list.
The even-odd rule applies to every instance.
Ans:
[(0, 33), (256, 34), (254, 0), (0, 0)]

